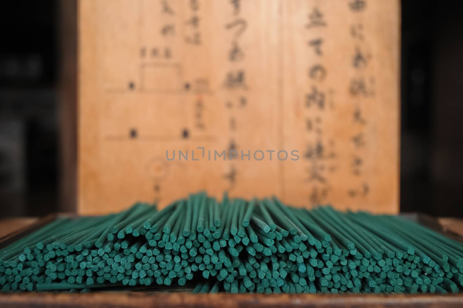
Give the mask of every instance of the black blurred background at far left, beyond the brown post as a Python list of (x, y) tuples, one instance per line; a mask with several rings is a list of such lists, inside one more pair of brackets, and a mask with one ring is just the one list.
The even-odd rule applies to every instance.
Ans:
[(0, 217), (57, 205), (56, 2), (0, 10)]

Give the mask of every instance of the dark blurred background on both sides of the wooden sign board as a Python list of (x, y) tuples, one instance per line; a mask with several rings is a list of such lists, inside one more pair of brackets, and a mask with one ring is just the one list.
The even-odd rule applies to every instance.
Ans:
[[(59, 208), (58, 1), (0, 10), (0, 217)], [(402, 212), (463, 216), (463, 5), (402, 1)]]

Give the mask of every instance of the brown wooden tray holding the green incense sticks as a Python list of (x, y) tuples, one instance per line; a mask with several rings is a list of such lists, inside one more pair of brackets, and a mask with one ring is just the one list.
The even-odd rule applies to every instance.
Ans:
[[(37, 223), (0, 238), (0, 248), (50, 223), (51, 214)], [(401, 217), (413, 220), (448, 237), (463, 242), (463, 237), (444, 231), (436, 218), (421, 213), (405, 213)], [(418, 295), (329, 295), (329, 294), (192, 294), (192, 286), (166, 286), (99, 289), (91, 293), (22, 292), (0, 293), (0, 307), (463, 307), (463, 294)]]

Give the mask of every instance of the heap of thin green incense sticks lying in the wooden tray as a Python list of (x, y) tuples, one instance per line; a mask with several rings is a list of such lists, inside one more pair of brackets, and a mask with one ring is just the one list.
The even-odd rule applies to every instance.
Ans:
[(447, 293), (463, 245), (416, 223), (330, 206), (192, 194), (60, 218), (0, 250), (1, 291), (185, 286), (195, 293)]

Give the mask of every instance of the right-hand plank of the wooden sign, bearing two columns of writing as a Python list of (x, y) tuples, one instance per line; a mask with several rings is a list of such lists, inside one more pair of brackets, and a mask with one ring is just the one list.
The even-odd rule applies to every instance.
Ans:
[[(357, 2), (366, 6), (350, 8)], [(398, 211), (397, 2), (285, 3), (285, 147), (313, 150), (305, 163), (287, 167), (288, 202), (301, 204), (309, 195), (307, 202), (340, 209)], [(318, 40), (320, 45), (308, 45)], [(350, 93), (354, 81), (365, 83), (356, 94)], [(311, 100), (307, 107), (306, 96), (313, 93), (325, 96), (324, 106)]]

